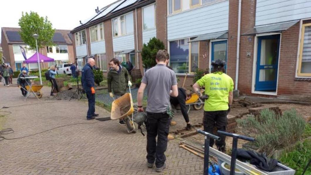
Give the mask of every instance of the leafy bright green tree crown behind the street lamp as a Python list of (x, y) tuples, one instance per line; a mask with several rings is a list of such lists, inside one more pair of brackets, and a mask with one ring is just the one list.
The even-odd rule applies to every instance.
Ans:
[(29, 49), (36, 50), (36, 40), (32, 36), (38, 34), (38, 48), (42, 48), (45, 45), (53, 45), (53, 36), (55, 29), (52, 28), (52, 23), (48, 20), (48, 17), (40, 17), (38, 13), (22, 12), (22, 17), (19, 19), (18, 25), (21, 27), (19, 32), (21, 39), (29, 45)]

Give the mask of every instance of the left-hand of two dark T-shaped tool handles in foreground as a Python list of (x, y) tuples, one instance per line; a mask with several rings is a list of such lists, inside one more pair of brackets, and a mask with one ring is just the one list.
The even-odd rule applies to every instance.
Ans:
[(197, 132), (205, 135), (205, 143), (204, 143), (204, 175), (208, 175), (208, 162), (209, 162), (209, 154), (210, 154), (210, 138), (220, 141), (220, 137), (216, 135), (212, 135), (203, 130), (197, 129)]

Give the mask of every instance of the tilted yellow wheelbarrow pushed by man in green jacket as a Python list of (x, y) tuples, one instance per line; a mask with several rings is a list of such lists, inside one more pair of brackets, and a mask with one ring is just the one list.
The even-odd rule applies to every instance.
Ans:
[[(133, 100), (132, 100), (132, 93), (131, 87), (130, 93), (125, 93), (123, 96), (115, 99), (111, 104), (111, 120), (123, 120), (128, 133), (136, 133), (136, 127), (133, 123)], [(132, 117), (129, 117), (132, 115)]]

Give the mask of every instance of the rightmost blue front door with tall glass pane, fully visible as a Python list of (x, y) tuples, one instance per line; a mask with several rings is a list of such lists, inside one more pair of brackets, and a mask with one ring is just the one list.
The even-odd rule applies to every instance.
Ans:
[(255, 91), (276, 91), (280, 35), (258, 37)]

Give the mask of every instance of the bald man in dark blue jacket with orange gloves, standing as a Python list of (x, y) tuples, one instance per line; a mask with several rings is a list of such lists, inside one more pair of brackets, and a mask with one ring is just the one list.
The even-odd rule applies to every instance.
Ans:
[(94, 74), (93, 66), (95, 65), (95, 60), (89, 58), (87, 64), (82, 69), (81, 83), (84, 91), (86, 92), (86, 97), (89, 101), (89, 110), (87, 111), (87, 120), (95, 119), (98, 114), (95, 114), (95, 89), (94, 89)]

